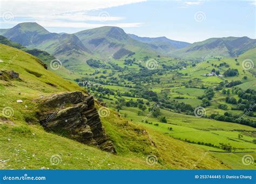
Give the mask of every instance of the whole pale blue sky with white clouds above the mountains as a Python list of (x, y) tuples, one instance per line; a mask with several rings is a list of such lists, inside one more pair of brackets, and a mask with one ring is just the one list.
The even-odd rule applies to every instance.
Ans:
[(215, 37), (256, 38), (256, 1), (0, 0), (0, 27), (37, 22), (50, 32), (118, 26), (140, 37), (194, 43)]

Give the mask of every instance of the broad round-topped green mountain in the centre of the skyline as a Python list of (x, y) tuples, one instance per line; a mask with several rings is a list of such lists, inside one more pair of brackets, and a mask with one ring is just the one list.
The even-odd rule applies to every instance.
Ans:
[(115, 59), (119, 59), (133, 52), (156, 53), (149, 45), (132, 39), (119, 27), (103, 26), (80, 31), (75, 33), (75, 35), (82, 41), (85, 47), (104, 59), (109, 58), (112, 54), (114, 54)]

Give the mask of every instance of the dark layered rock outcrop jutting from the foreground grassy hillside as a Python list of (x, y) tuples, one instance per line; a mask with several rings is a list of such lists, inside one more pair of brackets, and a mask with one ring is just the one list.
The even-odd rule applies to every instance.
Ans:
[(39, 109), (37, 117), (45, 130), (116, 153), (113, 143), (107, 140), (92, 96), (80, 91), (54, 94), (42, 97)]

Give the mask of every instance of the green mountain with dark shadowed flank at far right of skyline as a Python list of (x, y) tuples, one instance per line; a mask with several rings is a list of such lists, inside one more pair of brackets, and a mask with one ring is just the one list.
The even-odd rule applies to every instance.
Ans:
[(206, 56), (234, 57), (255, 47), (256, 39), (248, 37), (210, 38), (173, 51), (171, 54), (197, 59)]

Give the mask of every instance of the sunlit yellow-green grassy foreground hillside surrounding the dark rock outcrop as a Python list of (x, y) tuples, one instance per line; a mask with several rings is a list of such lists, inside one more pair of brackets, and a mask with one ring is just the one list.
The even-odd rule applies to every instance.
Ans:
[[(101, 121), (106, 135), (116, 148), (116, 155), (65, 138), (68, 136), (66, 132), (61, 132), (60, 135), (46, 132), (37, 118), (36, 112), (40, 110), (38, 103), (43, 99), (54, 100), (52, 97), (65, 95), (63, 92), (66, 91), (83, 89), (46, 70), (37, 62), (35, 56), (3, 44), (0, 44), (0, 48), (2, 169), (183, 169), (195, 165), (196, 168), (202, 169), (230, 168), (221, 164), (221, 161), (214, 158), (211, 153), (205, 154), (201, 148), (165, 136), (163, 133), (144, 129), (136, 123), (126, 122), (114, 111), (110, 111), (109, 116), (101, 118)], [(52, 93), (57, 94), (52, 96)], [(83, 91), (83, 94), (86, 95), (86, 92)], [(79, 100), (73, 98), (76, 99)], [(17, 100), (22, 100), (22, 103), (18, 103)], [(68, 108), (63, 110), (52, 109), (53, 118), (58, 113), (63, 115), (64, 111), (70, 110), (70, 104), (67, 105)], [(98, 109), (101, 108), (99, 104), (95, 105)], [(68, 122), (75, 123), (75, 119), (67, 117)], [(67, 121), (63, 119), (62, 123), (65, 122)], [(70, 128), (73, 128), (73, 124)], [(155, 165), (146, 162), (147, 155), (152, 154), (158, 157)], [(200, 160), (202, 156), (204, 159)], [(54, 160), (57, 162), (52, 164)]]

